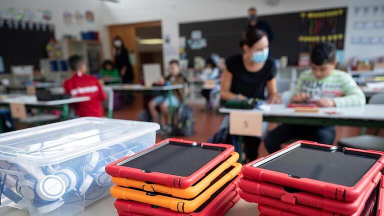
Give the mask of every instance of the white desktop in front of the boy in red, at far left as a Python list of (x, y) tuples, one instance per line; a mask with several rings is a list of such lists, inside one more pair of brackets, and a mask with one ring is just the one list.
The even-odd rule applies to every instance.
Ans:
[(11, 102), (20, 102), (25, 105), (41, 105), (41, 106), (53, 106), (63, 105), (76, 102), (84, 102), (90, 100), (88, 96), (72, 97), (68, 99), (49, 100), (49, 101), (38, 101), (35, 95), (27, 94), (3, 94), (0, 95), (0, 103), (8, 104)]

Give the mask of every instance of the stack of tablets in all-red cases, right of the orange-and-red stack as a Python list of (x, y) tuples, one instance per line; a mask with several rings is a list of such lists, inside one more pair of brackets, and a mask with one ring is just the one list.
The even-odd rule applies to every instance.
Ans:
[(238, 185), (262, 215), (384, 215), (383, 152), (297, 141), (243, 166)]

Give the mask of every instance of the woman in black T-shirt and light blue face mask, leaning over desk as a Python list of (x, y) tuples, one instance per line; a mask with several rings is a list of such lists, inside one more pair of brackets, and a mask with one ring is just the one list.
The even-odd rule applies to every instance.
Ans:
[[(221, 79), (220, 95), (222, 100), (233, 98), (259, 98), (268, 91), (268, 103), (280, 103), (276, 88), (276, 67), (268, 56), (268, 37), (264, 31), (249, 29), (240, 40), (242, 54), (235, 54), (225, 61)], [(245, 153), (252, 161), (257, 158), (260, 138), (244, 136)]]

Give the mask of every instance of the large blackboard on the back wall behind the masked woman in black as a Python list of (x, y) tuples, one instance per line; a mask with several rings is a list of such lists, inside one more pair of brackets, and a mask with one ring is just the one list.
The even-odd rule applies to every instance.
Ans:
[[(328, 35), (342, 35), (342, 38), (340, 36), (336, 40), (331, 38), (331, 42), (336, 44), (337, 49), (343, 49), (346, 13), (347, 8), (343, 7), (272, 14), (260, 16), (259, 19), (267, 21), (274, 33), (270, 55), (275, 58), (286, 55), (288, 64), (296, 65), (299, 53), (309, 52), (316, 42), (299, 42), (300, 36), (309, 40), (319, 36), (321, 40), (321, 35), (325, 35), (327, 40)], [(238, 43), (246, 25), (246, 17), (180, 23), (180, 37), (188, 40), (191, 31), (201, 30), (202, 37), (206, 39), (207, 45), (201, 49), (191, 49), (186, 45), (185, 52), (189, 66), (193, 66), (194, 56), (207, 58), (215, 52), (226, 58), (231, 54), (240, 53)]]

